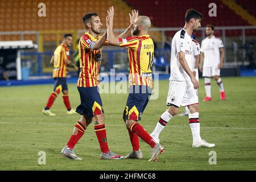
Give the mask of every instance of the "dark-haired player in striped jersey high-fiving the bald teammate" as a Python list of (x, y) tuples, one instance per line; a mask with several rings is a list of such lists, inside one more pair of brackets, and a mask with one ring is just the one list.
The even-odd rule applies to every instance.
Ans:
[[(76, 123), (67, 145), (61, 154), (70, 158), (81, 160), (73, 148), (84, 135), (86, 128), (94, 122), (94, 131), (101, 148), (101, 159), (122, 159), (122, 155), (109, 150), (105, 129), (105, 116), (100, 93), (98, 92), (99, 71), (101, 65), (102, 46), (106, 43), (106, 32), (100, 36), (102, 23), (97, 13), (86, 14), (82, 18), (86, 28), (85, 34), (79, 41), (80, 75), (77, 89), (80, 94), (81, 104), (76, 112), (81, 118)], [(106, 20), (106, 22), (108, 22)], [(106, 24), (108, 26), (108, 24)]]

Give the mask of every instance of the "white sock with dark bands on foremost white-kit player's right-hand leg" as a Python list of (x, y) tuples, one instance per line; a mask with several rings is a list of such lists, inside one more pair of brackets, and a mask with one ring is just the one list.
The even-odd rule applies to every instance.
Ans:
[(192, 131), (193, 143), (200, 143), (202, 141), (200, 137), (200, 123), (199, 123), (199, 113), (189, 113), (189, 126)]

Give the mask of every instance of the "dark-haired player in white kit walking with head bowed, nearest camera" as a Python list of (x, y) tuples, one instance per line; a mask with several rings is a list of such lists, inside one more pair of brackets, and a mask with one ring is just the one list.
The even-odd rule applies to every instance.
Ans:
[(197, 88), (199, 82), (192, 72), (192, 39), (193, 31), (197, 31), (201, 26), (203, 15), (194, 9), (187, 10), (185, 14), (185, 26), (176, 32), (172, 39), (171, 46), (171, 76), (170, 86), (167, 96), (166, 110), (156, 124), (155, 130), (150, 134), (156, 142), (159, 142), (159, 134), (167, 125), (168, 121), (174, 117), (181, 106), (189, 108), (189, 126), (191, 127), (193, 144), (192, 147), (214, 147), (215, 144), (207, 143), (200, 137), (200, 122)]

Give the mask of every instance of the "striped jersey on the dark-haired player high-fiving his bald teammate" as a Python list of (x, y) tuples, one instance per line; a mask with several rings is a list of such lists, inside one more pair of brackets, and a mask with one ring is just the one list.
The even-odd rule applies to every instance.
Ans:
[[(98, 86), (99, 71), (101, 66), (102, 48), (94, 50), (93, 46), (101, 36), (90, 35), (88, 32), (79, 41), (80, 74), (77, 86), (92, 87)], [(107, 45), (108, 43), (105, 43)]]

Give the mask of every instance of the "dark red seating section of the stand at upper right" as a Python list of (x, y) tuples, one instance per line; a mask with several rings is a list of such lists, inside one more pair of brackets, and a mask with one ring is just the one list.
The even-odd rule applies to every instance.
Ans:
[[(203, 13), (204, 20), (202, 26), (205, 24), (214, 24), (216, 27), (220, 26), (249, 26), (251, 25), (240, 15), (236, 14), (228, 6), (224, 5), (222, 1), (214, 1), (217, 5), (217, 16), (210, 17), (205, 7), (208, 7), (212, 1), (164, 1), (164, 0), (126, 0), (127, 4), (139, 9), (141, 14), (150, 16), (154, 26), (156, 27), (182, 27), (184, 25), (184, 13), (187, 9), (193, 8)], [(243, 1), (242, 1), (243, 2)], [(253, 2), (253, 1), (251, 1)], [(150, 5), (150, 6), (149, 6)], [(246, 4), (247, 5), (247, 4)], [(254, 1), (255, 5), (255, 1)], [(254, 7), (254, 6), (252, 6)], [(179, 11), (177, 11), (179, 9)], [(168, 36), (173, 36), (175, 32)], [(255, 30), (246, 31), (248, 35), (255, 35)], [(241, 35), (241, 32), (227, 31), (227, 36)]]

